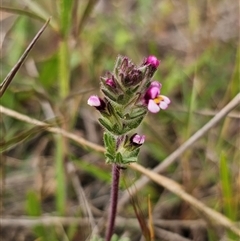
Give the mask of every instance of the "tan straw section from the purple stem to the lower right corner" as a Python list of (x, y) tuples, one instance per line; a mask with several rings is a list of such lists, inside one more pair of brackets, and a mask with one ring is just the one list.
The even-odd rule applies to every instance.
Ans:
[(148, 178), (150, 178), (152, 181), (158, 183), (159, 185), (165, 187), (172, 193), (175, 193), (180, 198), (182, 198), (184, 201), (188, 202), (192, 208), (197, 209), (200, 211), (209, 221), (213, 223), (217, 223), (222, 225), (223, 227), (231, 230), (235, 234), (239, 235), (240, 237), (240, 229), (236, 227), (236, 225), (230, 221), (228, 218), (226, 218), (221, 213), (218, 213), (214, 211), (213, 209), (205, 206), (203, 203), (195, 199), (190, 194), (186, 193), (182, 186), (180, 186), (178, 183), (172, 181), (171, 179), (164, 177), (162, 175), (159, 175), (151, 170), (148, 170), (141, 165), (138, 165), (136, 163), (131, 164), (131, 166), (141, 172), (142, 174), (146, 175)]

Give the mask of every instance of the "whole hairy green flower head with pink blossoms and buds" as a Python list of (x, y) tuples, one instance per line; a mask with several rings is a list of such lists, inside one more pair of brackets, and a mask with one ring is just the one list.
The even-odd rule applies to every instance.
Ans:
[(136, 162), (145, 136), (129, 137), (127, 133), (140, 125), (148, 111), (157, 113), (170, 104), (168, 97), (160, 95), (162, 85), (152, 81), (159, 64), (155, 56), (144, 59), (140, 66), (118, 57), (113, 72), (101, 77), (104, 98), (93, 95), (88, 99), (101, 114), (108, 163)]

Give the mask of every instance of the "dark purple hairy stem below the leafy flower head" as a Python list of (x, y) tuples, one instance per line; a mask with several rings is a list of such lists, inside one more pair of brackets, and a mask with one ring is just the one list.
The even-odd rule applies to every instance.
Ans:
[(115, 218), (117, 213), (119, 178), (120, 178), (120, 167), (117, 164), (113, 164), (112, 165), (112, 189), (111, 189), (111, 200), (110, 200), (111, 203), (110, 203), (108, 226), (106, 229), (106, 241), (110, 241), (113, 235)]

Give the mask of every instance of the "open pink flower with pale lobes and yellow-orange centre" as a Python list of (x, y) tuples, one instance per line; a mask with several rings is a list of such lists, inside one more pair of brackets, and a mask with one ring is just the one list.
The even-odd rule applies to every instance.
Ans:
[(153, 81), (144, 95), (145, 104), (152, 113), (157, 113), (161, 109), (167, 109), (168, 105), (171, 103), (167, 96), (160, 95), (161, 87), (162, 85), (159, 82)]

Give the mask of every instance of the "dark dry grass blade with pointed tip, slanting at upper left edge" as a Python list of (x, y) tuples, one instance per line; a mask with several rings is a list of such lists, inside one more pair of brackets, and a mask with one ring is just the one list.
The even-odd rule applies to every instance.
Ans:
[(37, 40), (39, 39), (39, 37), (42, 35), (42, 33), (44, 32), (45, 28), (47, 27), (48, 23), (50, 22), (50, 18), (47, 20), (47, 22), (43, 25), (43, 27), (38, 31), (38, 33), (36, 34), (36, 36), (33, 38), (33, 40), (31, 41), (31, 43), (28, 45), (28, 47), (26, 48), (26, 50), (24, 51), (24, 53), (22, 54), (22, 56), (20, 57), (20, 59), (18, 60), (18, 62), (14, 65), (14, 67), (11, 69), (11, 71), (8, 73), (8, 75), (6, 76), (6, 78), (3, 80), (3, 82), (0, 85), (0, 98), (3, 96), (4, 92), (7, 90), (8, 86), (10, 85), (10, 83), (12, 82), (14, 76), (16, 75), (16, 73), (18, 72), (19, 68), (21, 67), (21, 65), (23, 64), (24, 60), (27, 58), (29, 52), (31, 51), (31, 49), (33, 48), (34, 44), (37, 42)]

